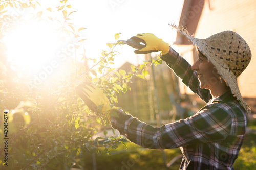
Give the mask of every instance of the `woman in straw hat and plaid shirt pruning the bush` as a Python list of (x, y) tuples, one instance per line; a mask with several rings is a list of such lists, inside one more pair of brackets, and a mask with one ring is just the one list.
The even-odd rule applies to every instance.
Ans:
[[(184, 29), (176, 29), (197, 47), (198, 60), (194, 65), (151, 33), (131, 38), (145, 44), (135, 53), (161, 51), (161, 59), (207, 104), (191, 117), (157, 128), (118, 109), (119, 117), (111, 117), (112, 127), (145, 148), (180, 147), (183, 153), (180, 169), (233, 169), (245, 135), (246, 113), (250, 112), (237, 84), (237, 77), (251, 59), (249, 46), (233, 31), (197, 39)], [(81, 86), (86, 92), (81, 97), (83, 100), (90, 100), (97, 106), (109, 105), (106, 100), (98, 102), (105, 96), (103, 93), (94, 95), (96, 87)], [(103, 108), (105, 112), (109, 109)]]

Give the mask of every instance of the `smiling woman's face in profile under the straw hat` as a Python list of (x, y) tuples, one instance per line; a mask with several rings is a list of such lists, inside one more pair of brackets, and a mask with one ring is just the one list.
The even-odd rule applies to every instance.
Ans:
[(197, 71), (201, 88), (209, 90), (216, 88), (220, 81), (217, 70), (201, 52), (198, 53), (198, 60), (191, 66), (191, 69)]

